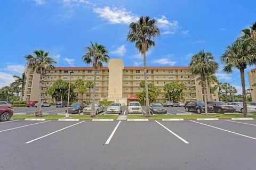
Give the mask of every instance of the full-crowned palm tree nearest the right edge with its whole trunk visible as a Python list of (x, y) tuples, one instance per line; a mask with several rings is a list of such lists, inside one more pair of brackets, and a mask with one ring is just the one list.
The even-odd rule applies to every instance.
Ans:
[(244, 70), (247, 66), (256, 63), (256, 43), (252, 39), (240, 39), (227, 47), (226, 52), (221, 56), (221, 61), (225, 64), (223, 71), (231, 73), (233, 68), (240, 71), (244, 117), (247, 117), (246, 91)]

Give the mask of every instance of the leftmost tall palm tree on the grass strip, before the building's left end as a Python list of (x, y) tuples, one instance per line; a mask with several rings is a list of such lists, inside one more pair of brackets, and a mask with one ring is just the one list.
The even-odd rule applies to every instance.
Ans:
[(49, 57), (49, 52), (44, 52), (43, 50), (35, 50), (33, 55), (27, 55), (27, 69), (30, 69), (37, 74), (39, 74), (39, 93), (38, 93), (38, 106), (36, 116), (42, 116), (41, 109), (41, 91), (42, 91), (42, 76), (46, 74), (46, 71), (53, 70), (53, 64), (56, 64), (53, 58)]

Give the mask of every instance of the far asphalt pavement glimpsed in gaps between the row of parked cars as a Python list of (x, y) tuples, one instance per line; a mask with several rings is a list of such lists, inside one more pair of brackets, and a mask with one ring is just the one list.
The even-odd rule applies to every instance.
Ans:
[[(104, 112), (101, 112), (99, 114), (105, 114), (108, 106), (105, 106)], [(165, 107), (167, 109), (167, 114), (187, 114), (192, 113), (196, 114), (195, 112), (186, 112), (184, 107)], [(34, 114), (37, 110), (36, 107), (14, 107), (14, 114)], [(66, 107), (42, 107), (42, 111), (44, 114), (65, 114)], [(142, 106), (143, 113), (146, 111), (146, 107)], [(122, 115), (128, 115), (128, 107), (122, 106)]]

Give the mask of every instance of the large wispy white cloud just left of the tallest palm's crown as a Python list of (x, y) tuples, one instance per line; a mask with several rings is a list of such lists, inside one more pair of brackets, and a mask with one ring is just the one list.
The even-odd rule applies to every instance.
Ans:
[(131, 22), (139, 20), (137, 15), (133, 14), (131, 11), (127, 11), (125, 8), (105, 6), (103, 8), (94, 8), (93, 12), (99, 14), (101, 18), (106, 19), (113, 24), (130, 24)]

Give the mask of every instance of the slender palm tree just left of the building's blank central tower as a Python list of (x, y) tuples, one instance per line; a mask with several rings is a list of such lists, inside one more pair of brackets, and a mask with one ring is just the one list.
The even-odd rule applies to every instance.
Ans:
[(105, 46), (95, 43), (89, 47), (85, 47), (86, 54), (82, 57), (86, 64), (92, 64), (94, 70), (94, 80), (93, 80), (93, 95), (92, 95), (92, 109), (91, 117), (95, 116), (95, 87), (96, 87), (96, 75), (99, 69), (102, 67), (103, 63), (107, 63), (109, 60), (108, 50)]

